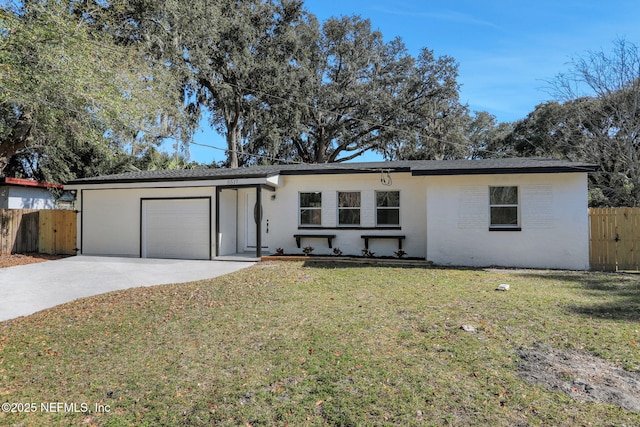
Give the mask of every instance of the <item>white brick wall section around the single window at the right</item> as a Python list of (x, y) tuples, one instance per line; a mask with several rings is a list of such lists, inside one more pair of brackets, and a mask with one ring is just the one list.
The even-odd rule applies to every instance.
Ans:
[[(427, 259), (437, 264), (589, 268), (584, 173), (428, 177)], [(521, 231), (489, 231), (489, 186), (518, 186)]]

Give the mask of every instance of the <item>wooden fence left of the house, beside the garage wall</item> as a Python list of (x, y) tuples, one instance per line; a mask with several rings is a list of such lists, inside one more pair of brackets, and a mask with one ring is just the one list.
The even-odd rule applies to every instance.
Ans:
[(76, 254), (76, 212), (0, 209), (0, 255)]

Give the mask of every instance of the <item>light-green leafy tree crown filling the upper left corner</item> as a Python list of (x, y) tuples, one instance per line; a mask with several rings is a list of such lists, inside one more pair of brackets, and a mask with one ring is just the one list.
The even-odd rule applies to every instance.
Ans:
[(10, 164), (53, 181), (108, 173), (126, 151), (171, 135), (173, 80), (74, 8), (0, 8), (0, 173)]

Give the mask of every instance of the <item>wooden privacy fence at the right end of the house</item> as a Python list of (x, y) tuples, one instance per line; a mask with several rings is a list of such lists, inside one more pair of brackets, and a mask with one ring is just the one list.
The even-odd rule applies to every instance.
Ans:
[(640, 270), (640, 208), (591, 208), (592, 270)]

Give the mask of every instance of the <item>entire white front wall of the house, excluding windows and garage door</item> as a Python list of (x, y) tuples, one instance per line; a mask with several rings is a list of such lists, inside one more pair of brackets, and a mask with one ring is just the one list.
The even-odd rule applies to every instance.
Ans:
[[(262, 192), (264, 215), (269, 221), (264, 239), (269, 249), (265, 253), (282, 248), (288, 254), (301, 254), (303, 247), (313, 246), (314, 254), (333, 254), (326, 239), (303, 239), (302, 247), (298, 248), (293, 236), (335, 234), (334, 248), (340, 248), (344, 255), (361, 255), (362, 235), (386, 234), (406, 236), (403, 250), (408, 256), (425, 257), (437, 264), (589, 268), (585, 173), (425, 177), (391, 173), (391, 176), (391, 186), (380, 182), (379, 172), (280, 176), (275, 193)], [(489, 231), (488, 187), (500, 185), (519, 188), (521, 231)], [(233, 243), (239, 250), (246, 247), (247, 208), (243, 195), (253, 191), (254, 188), (241, 189), (237, 199), (223, 198), (232, 203), (237, 200), (238, 215), (237, 221), (232, 221), (233, 218), (221, 221), (225, 232), (235, 232), (237, 237), (236, 242), (229, 240), (225, 253), (233, 250)], [(299, 193), (314, 191), (322, 193), (322, 225), (300, 227)], [(338, 226), (338, 191), (361, 192), (359, 227)], [(396, 229), (375, 227), (376, 191), (400, 192), (400, 226)], [(85, 189), (83, 196), (83, 253), (138, 256), (141, 197), (210, 196), (215, 200), (215, 186)], [(233, 212), (234, 209), (222, 209), (221, 216)], [(212, 222), (215, 223), (215, 215)], [(215, 236), (212, 242), (215, 245)], [(398, 242), (370, 240), (369, 245), (376, 255), (393, 256)]]

